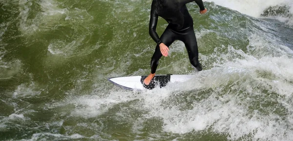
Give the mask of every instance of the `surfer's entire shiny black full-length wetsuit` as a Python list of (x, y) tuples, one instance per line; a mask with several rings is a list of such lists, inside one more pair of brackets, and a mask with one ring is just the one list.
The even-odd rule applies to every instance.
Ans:
[[(169, 47), (175, 40), (184, 42), (188, 51), (190, 63), (198, 71), (201, 64), (198, 61), (198, 47), (193, 29), (193, 19), (190, 16), (186, 3), (195, 1), (200, 10), (205, 10), (202, 0), (153, 0), (150, 11), (149, 35), (157, 43), (155, 53), (151, 58), (151, 73), (155, 73), (159, 60), (162, 57), (159, 45), (164, 43)], [(159, 38), (156, 33), (158, 16), (164, 18), (169, 24)]]

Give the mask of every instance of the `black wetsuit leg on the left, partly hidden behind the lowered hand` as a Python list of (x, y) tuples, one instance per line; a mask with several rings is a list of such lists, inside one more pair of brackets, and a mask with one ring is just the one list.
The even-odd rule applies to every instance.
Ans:
[[(168, 27), (164, 31), (164, 33), (160, 37), (161, 41), (169, 47), (176, 39), (176, 34), (174, 34)], [(153, 56), (151, 57), (150, 61), (150, 68), (151, 73), (155, 73), (159, 64), (160, 58), (163, 56), (163, 54), (160, 51), (159, 45), (156, 46), (155, 52)]]

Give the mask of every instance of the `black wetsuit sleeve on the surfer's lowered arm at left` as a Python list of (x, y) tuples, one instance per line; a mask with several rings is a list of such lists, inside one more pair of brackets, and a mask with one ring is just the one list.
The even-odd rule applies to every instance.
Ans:
[(159, 38), (159, 35), (156, 32), (157, 23), (158, 23), (158, 14), (157, 14), (157, 8), (155, 4), (156, 4), (156, 1), (153, 0), (151, 3), (148, 32), (151, 38), (159, 45), (162, 42)]

